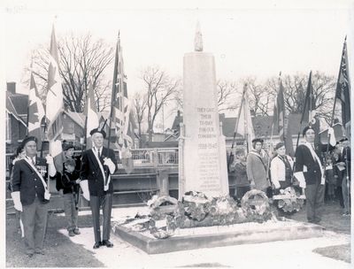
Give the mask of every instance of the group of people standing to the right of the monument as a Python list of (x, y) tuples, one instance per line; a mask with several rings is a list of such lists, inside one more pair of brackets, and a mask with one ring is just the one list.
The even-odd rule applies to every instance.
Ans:
[[(329, 130), (333, 134), (333, 129)], [(334, 134), (333, 134), (334, 135)], [(252, 140), (252, 150), (235, 151), (229, 167), (229, 183), (235, 187), (234, 197), (241, 201), (250, 189), (264, 191), (267, 196), (280, 194), (281, 189), (293, 186), (306, 197), (306, 216), (312, 223), (321, 220), (325, 201), (338, 199), (342, 215), (350, 216), (350, 142), (315, 144), (315, 131), (305, 127), (304, 143), (297, 146), (295, 158), (286, 154), (285, 144), (279, 142), (273, 154), (264, 150), (264, 141)]]

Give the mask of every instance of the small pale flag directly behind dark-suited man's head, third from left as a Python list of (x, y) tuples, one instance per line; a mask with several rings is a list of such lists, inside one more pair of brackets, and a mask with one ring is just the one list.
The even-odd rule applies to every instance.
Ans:
[(84, 108), (84, 114), (86, 116), (85, 119), (85, 130), (86, 130), (86, 149), (92, 148), (91, 135), (89, 132), (99, 127), (99, 119), (96, 109), (95, 95), (94, 95), (94, 87), (93, 87), (93, 78), (91, 77), (89, 80), (89, 91), (86, 96), (86, 104)]

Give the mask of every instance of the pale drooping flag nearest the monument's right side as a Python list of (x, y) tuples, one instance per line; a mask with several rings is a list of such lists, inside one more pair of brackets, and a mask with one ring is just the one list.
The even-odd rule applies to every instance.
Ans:
[(247, 150), (250, 152), (252, 149), (252, 140), (255, 137), (252, 119), (250, 119), (250, 104), (249, 97), (247, 94), (247, 84), (244, 85), (242, 101), (239, 111), (239, 116), (236, 121), (235, 134), (242, 135), (245, 142), (247, 143)]

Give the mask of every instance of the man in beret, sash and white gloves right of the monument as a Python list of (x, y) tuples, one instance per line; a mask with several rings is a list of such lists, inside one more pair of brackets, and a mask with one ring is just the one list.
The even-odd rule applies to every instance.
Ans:
[[(328, 133), (335, 138), (333, 128)], [(315, 145), (315, 131), (312, 127), (304, 127), (303, 136), (305, 142), (296, 148), (294, 176), (299, 181), (299, 186), (304, 188), (306, 196), (306, 215), (308, 222), (319, 223), (321, 210), (325, 197), (325, 172), (321, 160), (321, 152), (327, 146)], [(332, 150), (335, 140), (330, 141)]]

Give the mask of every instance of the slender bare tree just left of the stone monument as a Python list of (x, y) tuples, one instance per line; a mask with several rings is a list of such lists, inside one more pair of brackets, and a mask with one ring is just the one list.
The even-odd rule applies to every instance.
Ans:
[(161, 110), (162, 105), (167, 104), (173, 99), (174, 94), (179, 88), (180, 81), (170, 78), (158, 66), (146, 67), (142, 71), (141, 79), (144, 82), (147, 96), (148, 134), (149, 141), (151, 142), (158, 112)]

